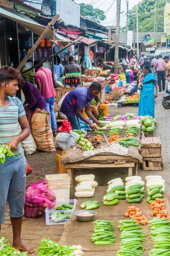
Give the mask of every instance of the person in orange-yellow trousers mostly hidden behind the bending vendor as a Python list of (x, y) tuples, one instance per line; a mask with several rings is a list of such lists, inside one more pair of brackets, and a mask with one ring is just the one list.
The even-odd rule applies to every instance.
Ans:
[[(97, 116), (99, 115), (99, 110), (103, 111), (103, 116), (108, 116), (108, 106), (106, 104), (101, 104), (99, 97), (95, 96), (91, 102), (90, 111)], [(85, 113), (85, 108), (83, 108), (82, 113), (85, 117), (88, 117)]]

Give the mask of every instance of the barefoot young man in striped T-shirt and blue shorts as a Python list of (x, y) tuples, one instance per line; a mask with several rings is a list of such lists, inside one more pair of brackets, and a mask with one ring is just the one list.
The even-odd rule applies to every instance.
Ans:
[[(28, 138), (30, 128), (23, 105), (15, 96), (21, 76), (13, 67), (0, 69), (0, 144), (7, 144), (14, 153), (0, 162), (0, 227), (5, 221), (6, 201), (9, 203), (9, 215), (13, 230), (12, 246), (29, 253), (34, 248), (21, 241), (21, 223), (26, 190), (26, 159), (21, 142)], [(21, 133), (18, 132), (18, 122)], [(2, 152), (0, 152), (2, 153)], [(0, 156), (2, 158), (2, 154)]]

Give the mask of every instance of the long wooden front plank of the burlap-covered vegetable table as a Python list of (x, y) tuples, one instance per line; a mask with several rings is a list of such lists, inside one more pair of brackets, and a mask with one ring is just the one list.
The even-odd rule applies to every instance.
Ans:
[[(97, 164), (93, 164), (93, 168), (105, 168), (105, 167), (108, 167), (108, 168), (112, 168), (112, 167), (134, 167), (135, 166), (135, 163), (119, 163), (119, 164), (101, 164), (99, 165), (98, 163)], [(81, 163), (68, 163), (68, 164), (65, 164), (64, 167), (66, 168), (89, 168), (91, 167), (91, 164), (81, 164)]]

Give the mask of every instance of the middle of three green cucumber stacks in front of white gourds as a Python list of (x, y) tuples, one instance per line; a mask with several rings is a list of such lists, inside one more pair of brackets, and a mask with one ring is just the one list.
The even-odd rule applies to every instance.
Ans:
[(127, 203), (128, 204), (140, 204), (144, 198), (144, 190), (142, 184), (136, 184), (129, 186), (127, 190)]

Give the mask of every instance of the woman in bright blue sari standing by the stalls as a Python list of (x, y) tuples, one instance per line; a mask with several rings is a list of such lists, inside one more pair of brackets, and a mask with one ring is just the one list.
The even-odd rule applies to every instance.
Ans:
[[(149, 73), (148, 66), (144, 66), (142, 74), (138, 76), (137, 84), (139, 82), (140, 99), (138, 116), (153, 116), (155, 117), (155, 99), (158, 97), (158, 85), (156, 78), (152, 73)], [(154, 90), (155, 88), (155, 90)]]

